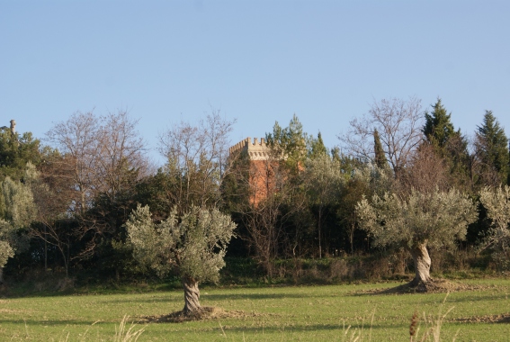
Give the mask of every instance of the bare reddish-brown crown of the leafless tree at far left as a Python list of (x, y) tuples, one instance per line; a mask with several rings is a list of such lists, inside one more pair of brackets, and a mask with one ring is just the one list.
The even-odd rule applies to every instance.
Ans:
[(137, 122), (122, 111), (106, 116), (75, 112), (46, 133), (64, 156), (61, 162), (73, 166), (71, 174), (63, 175), (71, 177), (69, 183), (76, 193), (69, 199), (70, 211), (83, 214), (98, 193), (116, 193), (130, 169), (145, 174), (148, 161), (143, 155), (145, 142), (136, 131)]

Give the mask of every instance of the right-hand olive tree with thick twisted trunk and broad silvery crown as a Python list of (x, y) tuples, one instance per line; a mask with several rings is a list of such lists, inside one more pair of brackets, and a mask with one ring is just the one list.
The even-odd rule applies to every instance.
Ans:
[(412, 286), (432, 281), (427, 247), (452, 247), (464, 239), (468, 224), (477, 219), (473, 202), (457, 190), (431, 193), (412, 191), (407, 198), (395, 193), (374, 194), (356, 205), (360, 227), (374, 238), (375, 246), (404, 247), (413, 257)]

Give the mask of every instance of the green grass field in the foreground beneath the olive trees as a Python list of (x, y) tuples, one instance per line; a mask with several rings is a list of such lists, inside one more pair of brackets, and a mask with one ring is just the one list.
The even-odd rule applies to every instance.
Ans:
[[(184, 323), (137, 323), (139, 341), (409, 341), (419, 314), (420, 337), (439, 311), (441, 340), (510, 341), (510, 280), (466, 280), (478, 289), (431, 294), (374, 294), (398, 285), (201, 289), (201, 305), (244, 311), (237, 318)], [(0, 299), (2, 341), (112, 341), (124, 315), (130, 321), (183, 307), (181, 291)], [(373, 323), (371, 318), (373, 315)], [(502, 316), (506, 319), (501, 321)], [(347, 330), (347, 327), (351, 326)], [(346, 334), (345, 334), (346, 332)], [(361, 336), (360, 336), (361, 335)], [(432, 339), (430, 339), (432, 340)]]

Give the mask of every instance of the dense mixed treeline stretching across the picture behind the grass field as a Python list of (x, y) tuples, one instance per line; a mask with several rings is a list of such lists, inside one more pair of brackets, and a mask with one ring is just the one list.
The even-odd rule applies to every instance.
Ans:
[[(159, 168), (126, 112), (76, 112), (44, 139), (0, 130), (1, 270), (13, 278), (45, 270), (133, 279), (177, 260), (168, 261), (166, 274), (202, 279), (194, 265), (200, 261), (179, 259), (183, 249), (165, 258), (151, 247), (151, 260), (161, 262), (144, 266), (142, 242), (130, 230), (166, 227), (171, 218), (199, 215), (198, 208), (231, 218), (237, 228), (228, 255), (252, 258), (269, 276), (282, 259), (297, 266), (303, 258), (397, 251), (413, 257), (416, 281), (426, 281), (428, 252), (458, 247), (508, 264), (510, 154), (492, 112), (466, 135), (441, 99), (427, 111), (414, 97), (382, 100), (351, 121), (334, 148), (320, 132), (306, 133), (296, 116), (287, 127), (276, 122), (265, 137), (264, 189), (253, 186), (261, 168), (246, 153), (228, 156), (233, 124), (212, 112), (175, 125), (159, 136), (166, 157)], [(260, 191), (264, 199), (255, 203)], [(210, 253), (224, 251), (228, 234), (210, 241)], [(185, 234), (179, 243), (188, 240), (199, 244)], [(419, 273), (424, 265), (426, 274)]]

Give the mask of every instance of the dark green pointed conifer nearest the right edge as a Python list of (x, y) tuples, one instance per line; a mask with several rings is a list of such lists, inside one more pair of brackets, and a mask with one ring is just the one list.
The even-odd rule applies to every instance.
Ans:
[(483, 124), (478, 126), (475, 148), (481, 162), (482, 182), (493, 186), (506, 184), (509, 171), (508, 139), (491, 111), (485, 112)]

